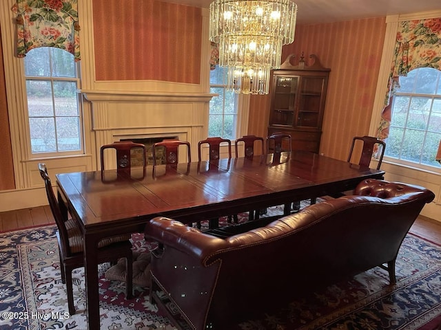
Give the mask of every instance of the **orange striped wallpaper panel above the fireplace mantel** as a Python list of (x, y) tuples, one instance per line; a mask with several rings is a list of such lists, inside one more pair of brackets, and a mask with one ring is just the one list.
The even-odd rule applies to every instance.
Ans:
[(93, 0), (96, 80), (200, 83), (201, 8)]

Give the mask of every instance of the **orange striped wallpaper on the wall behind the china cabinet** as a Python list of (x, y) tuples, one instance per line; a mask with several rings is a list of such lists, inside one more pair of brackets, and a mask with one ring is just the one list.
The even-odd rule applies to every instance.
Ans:
[[(331, 69), (320, 153), (346, 160), (352, 137), (369, 133), (385, 31), (385, 17), (298, 25), (294, 43), (283, 47), (282, 62), (305, 52)], [(252, 96), (251, 104), (249, 133), (265, 136), (269, 96)]]

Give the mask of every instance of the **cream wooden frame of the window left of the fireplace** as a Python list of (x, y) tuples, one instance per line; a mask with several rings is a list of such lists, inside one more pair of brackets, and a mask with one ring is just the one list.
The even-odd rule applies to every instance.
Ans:
[[(66, 50), (61, 50), (63, 52), (67, 52)], [(32, 50), (31, 50), (32, 52)], [(25, 117), (25, 132), (26, 132), (26, 145), (28, 146), (28, 159), (43, 159), (43, 158), (54, 158), (54, 157), (65, 157), (65, 156), (81, 156), (85, 155), (85, 133), (84, 133), (84, 118), (83, 118), (83, 107), (82, 107), (82, 96), (81, 96), (81, 67), (80, 62), (74, 62), (75, 77), (64, 77), (64, 76), (26, 76), (25, 74), (25, 59), (21, 58), (21, 65), (23, 65), (23, 104), (25, 107), (25, 111), (23, 113)], [(72, 55), (72, 61), (74, 61), (74, 56)], [(52, 63), (50, 62), (50, 65)], [(52, 72), (52, 69), (50, 70)], [(54, 101), (54, 93), (53, 93), (53, 83), (54, 82), (75, 82), (76, 83), (76, 104), (78, 106), (78, 118), (79, 118), (79, 146), (78, 150), (74, 151), (50, 151), (50, 152), (38, 152), (32, 153), (32, 143), (31, 143), (31, 134), (30, 134), (30, 115), (29, 115), (29, 106), (28, 106), (28, 89), (26, 87), (26, 82), (28, 80), (41, 80), (41, 81), (50, 81), (51, 89), (52, 89), (52, 101)], [(57, 115), (54, 113), (53, 117), (56, 120)], [(56, 136), (57, 139), (57, 136)], [(57, 140), (56, 140), (57, 141)]]

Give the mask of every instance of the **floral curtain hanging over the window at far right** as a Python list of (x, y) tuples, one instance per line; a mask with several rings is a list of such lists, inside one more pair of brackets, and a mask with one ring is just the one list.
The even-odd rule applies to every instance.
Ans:
[(391, 75), (377, 137), (389, 136), (391, 100), (399, 86), (399, 77), (418, 67), (441, 69), (441, 18), (402, 21), (398, 24)]

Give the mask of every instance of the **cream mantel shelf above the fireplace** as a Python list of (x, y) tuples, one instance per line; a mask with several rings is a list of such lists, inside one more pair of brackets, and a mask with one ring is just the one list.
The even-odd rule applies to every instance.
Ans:
[(91, 91), (81, 94), (89, 102), (209, 102), (217, 94), (152, 91)]

